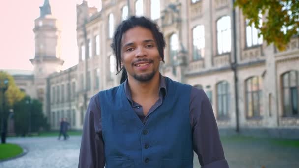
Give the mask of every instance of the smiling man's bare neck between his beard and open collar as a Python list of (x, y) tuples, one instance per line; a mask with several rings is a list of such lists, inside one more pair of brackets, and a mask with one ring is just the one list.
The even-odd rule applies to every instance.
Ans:
[(160, 74), (157, 72), (154, 77), (147, 82), (141, 82), (128, 77), (128, 84), (131, 90), (132, 99), (152, 99), (159, 96)]

